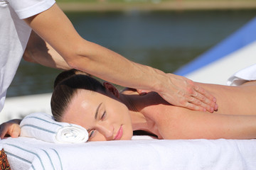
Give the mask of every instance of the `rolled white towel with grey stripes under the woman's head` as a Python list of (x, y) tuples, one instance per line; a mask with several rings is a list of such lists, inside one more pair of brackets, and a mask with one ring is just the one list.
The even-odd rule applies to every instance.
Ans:
[(21, 137), (33, 137), (52, 143), (82, 143), (88, 140), (88, 132), (80, 125), (59, 123), (52, 115), (32, 113), (21, 121)]

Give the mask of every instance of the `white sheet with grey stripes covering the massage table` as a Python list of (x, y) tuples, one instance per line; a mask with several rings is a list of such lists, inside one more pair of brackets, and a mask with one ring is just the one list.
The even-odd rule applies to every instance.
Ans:
[(256, 140), (129, 140), (56, 145), (1, 140), (11, 169), (255, 170)]

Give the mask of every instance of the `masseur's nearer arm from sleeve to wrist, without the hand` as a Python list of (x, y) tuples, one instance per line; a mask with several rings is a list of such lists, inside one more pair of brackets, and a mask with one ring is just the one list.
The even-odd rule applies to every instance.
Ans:
[[(167, 81), (164, 72), (129, 61), (112, 50), (81, 38), (58, 6), (28, 18), (26, 22), (72, 68), (135, 89), (161, 91), (161, 86)], [(44, 23), (43, 28), (41, 23)]]

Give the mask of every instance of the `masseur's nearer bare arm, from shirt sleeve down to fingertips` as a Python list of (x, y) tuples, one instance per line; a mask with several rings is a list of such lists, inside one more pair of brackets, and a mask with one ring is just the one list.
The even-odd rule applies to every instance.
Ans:
[(131, 62), (105, 47), (84, 40), (56, 4), (25, 21), (71, 68), (121, 86), (156, 91), (176, 106), (197, 111), (204, 108), (213, 111), (215, 108), (215, 98), (193, 81)]

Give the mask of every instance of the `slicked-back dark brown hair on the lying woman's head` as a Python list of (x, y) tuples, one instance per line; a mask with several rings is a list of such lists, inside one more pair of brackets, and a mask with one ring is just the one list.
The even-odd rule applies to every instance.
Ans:
[(74, 74), (63, 79), (55, 85), (50, 100), (51, 111), (56, 121), (61, 121), (64, 111), (68, 108), (72, 98), (77, 94), (79, 89), (101, 93), (105, 93), (106, 91), (100, 81), (86, 75)]

